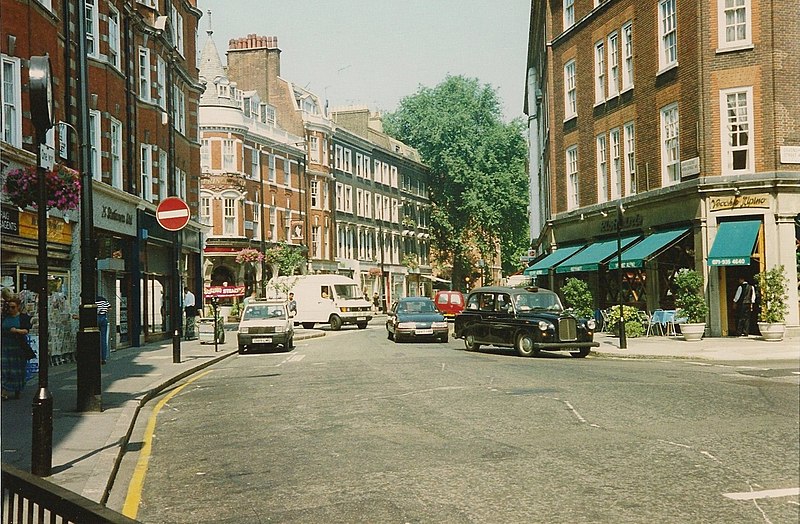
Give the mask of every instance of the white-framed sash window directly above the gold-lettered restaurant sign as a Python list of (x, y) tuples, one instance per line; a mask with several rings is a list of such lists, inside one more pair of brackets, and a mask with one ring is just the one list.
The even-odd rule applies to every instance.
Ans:
[(723, 174), (753, 171), (752, 95), (752, 87), (720, 92)]

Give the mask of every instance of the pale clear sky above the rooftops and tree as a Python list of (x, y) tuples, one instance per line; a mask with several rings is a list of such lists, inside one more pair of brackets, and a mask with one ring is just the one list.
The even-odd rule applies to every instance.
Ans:
[(522, 116), (531, 0), (197, 0), (199, 45), (277, 36), (281, 76), (331, 108), (393, 112), (445, 77), (495, 88), (503, 118)]

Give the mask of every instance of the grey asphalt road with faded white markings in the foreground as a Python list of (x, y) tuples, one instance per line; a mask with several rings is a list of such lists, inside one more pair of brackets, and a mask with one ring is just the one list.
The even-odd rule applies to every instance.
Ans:
[(171, 398), (137, 518), (797, 523), (795, 366), (525, 359), (373, 321), (228, 358)]

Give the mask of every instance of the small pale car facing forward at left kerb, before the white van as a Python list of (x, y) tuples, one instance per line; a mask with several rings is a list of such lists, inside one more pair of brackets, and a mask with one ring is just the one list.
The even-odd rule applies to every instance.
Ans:
[(239, 353), (254, 349), (294, 347), (294, 322), (283, 300), (253, 300), (239, 321)]

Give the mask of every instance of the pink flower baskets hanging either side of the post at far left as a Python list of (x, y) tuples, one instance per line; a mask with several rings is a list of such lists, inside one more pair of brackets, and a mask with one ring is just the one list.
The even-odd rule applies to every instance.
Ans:
[[(45, 173), (47, 184), (47, 209), (61, 211), (77, 209), (81, 198), (81, 181), (78, 172), (65, 166), (56, 166)], [(3, 191), (9, 202), (24, 207), (37, 207), (39, 198), (39, 175), (36, 167), (29, 166), (9, 170), (5, 175)]]

